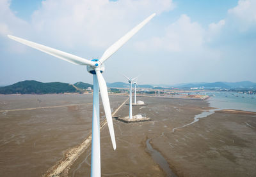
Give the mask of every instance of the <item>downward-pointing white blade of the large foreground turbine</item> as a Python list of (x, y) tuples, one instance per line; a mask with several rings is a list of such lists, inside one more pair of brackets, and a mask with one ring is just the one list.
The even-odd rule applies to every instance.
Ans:
[(106, 115), (107, 122), (108, 122), (110, 138), (112, 141), (113, 148), (114, 148), (114, 150), (116, 150), (115, 132), (114, 132), (113, 120), (112, 120), (111, 109), (110, 109), (109, 98), (108, 98), (108, 87), (107, 87), (106, 81), (104, 80), (100, 71), (96, 71), (96, 74), (97, 74), (97, 78), (98, 78), (98, 82), (99, 82), (100, 95), (101, 95), (105, 115)]

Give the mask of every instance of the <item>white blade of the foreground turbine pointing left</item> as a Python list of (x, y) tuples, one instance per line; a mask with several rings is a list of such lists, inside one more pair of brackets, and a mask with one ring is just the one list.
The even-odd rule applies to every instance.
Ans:
[(68, 62), (71, 62), (72, 64), (79, 64), (79, 65), (90, 65), (93, 66), (94, 63), (90, 60), (83, 59), (81, 57), (77, 57), (76, 55), (72, 55), (70, 53), (62, 52), (60, 50), (56, 50), (54, 48), (51, 48), (49, 46), (40, 45), (38, 43), (34, 43), (31, 41), (28, 41), (26, 39), (18, 38), (15, 36), (8, 35), (9, 38), (18, 41), (19, 43), (22, 43), (24, 45), (28, 45), (32, 48), (35, 48), (37, 50), (40, 50), (42, 52), (48, 53), (49, 55), (52, 55), (54, 57), (57, 57), (62, 60), (66, 60)]

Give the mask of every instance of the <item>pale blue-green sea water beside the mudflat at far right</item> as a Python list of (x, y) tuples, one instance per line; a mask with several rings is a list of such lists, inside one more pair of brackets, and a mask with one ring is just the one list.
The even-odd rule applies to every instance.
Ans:
[(256, 95), (237, 92), (205, 92), (211, 107), (256, 112)]

